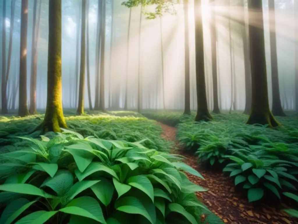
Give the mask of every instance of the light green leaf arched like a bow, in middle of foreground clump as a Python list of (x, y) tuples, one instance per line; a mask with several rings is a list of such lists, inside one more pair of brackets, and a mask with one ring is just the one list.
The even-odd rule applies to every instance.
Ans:
[(80, 172), (78, 169), (76, 169), (75, 175), (77, 176), (77, 179), (82, 181), (84, 178), (88, 177), (91, 174), (94, 174), (97, 171), (103, 171), (107, 174), (110, 174), (112, 177), (116, 178), (117, 180), (119, 180), (114, 170), (103, 165), (100, 162), (91, 162), (90, 165), (84, 170), (84, 172)]

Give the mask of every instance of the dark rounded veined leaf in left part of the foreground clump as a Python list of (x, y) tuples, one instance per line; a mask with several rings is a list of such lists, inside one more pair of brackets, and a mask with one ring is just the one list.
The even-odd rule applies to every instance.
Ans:
[(59, 196), (66, 194), (72, 187), (74, 178), (68, 170), (58, 170), (54, 177), (46, 179), (41, 187), (48, 186)]

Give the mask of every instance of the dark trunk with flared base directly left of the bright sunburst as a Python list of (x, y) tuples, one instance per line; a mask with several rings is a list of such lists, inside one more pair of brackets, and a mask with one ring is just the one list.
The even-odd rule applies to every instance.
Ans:
[(202, 23), (202, 6), (201, 0), (194, 1), (195, 15), (195, 76), (197, 87), (197, 115), (195, 121), (211, 120), (212, 116), (208, 111), (206, 84), (205, 84), (205, 68), (204, 68), (204, 38)]

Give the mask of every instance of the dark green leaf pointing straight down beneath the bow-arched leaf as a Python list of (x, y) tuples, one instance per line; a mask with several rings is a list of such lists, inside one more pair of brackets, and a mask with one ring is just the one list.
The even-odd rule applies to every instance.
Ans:
[(92, 185), (91, 190), (105, 206), (108, 206), (111, 203), (114, 193), (114, 185), (107, 179), (100, 178), (100, 182)]

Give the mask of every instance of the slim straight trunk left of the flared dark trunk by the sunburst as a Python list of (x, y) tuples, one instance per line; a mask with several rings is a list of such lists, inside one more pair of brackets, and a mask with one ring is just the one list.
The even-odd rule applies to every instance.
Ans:
[(185, 76), (185, 96), (184, 113), (190, 114), (190, 65), (189, 65), (189, 33), (188, 33), (188, 0), (183, 1), (184, 9), (184, 76)]

